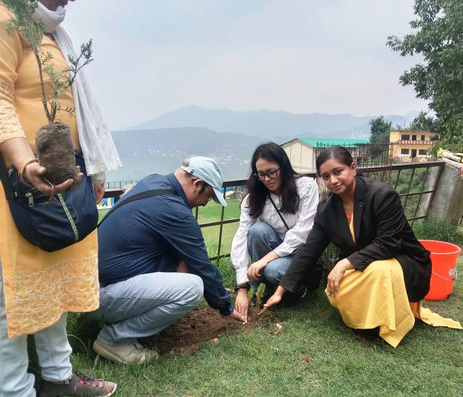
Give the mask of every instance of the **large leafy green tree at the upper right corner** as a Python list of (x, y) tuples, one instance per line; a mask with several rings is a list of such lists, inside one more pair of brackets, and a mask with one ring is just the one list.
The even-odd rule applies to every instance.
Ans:
[[(435, 155), (439, 147), (462, 152), (463, 1), (416, 0), (414, 11), (417, 19), (410, 26), (415, 32), (402, 40), (390, 36), (387, 44), (401, 56), (421, 54), (424, 63), (406, 70), (399, 81), (402, 86), (413, 86), (417, 98), (429, 101), (435, 112), (436, 119), (429, 123), (443, 139), (437, 140), (431, 153)], [(423, 116), (417, 119), (412, 123), (415, 126), (428, 123)]]

